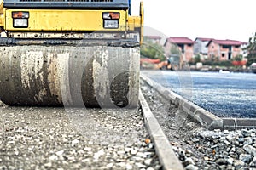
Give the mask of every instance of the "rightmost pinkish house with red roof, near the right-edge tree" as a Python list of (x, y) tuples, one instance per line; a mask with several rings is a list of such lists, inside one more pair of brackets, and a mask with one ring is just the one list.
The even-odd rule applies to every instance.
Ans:
[(215, 40), (207, 43), (208, 57), (210, 59), (230, 60), (241, 53), (241, 46), (246, 42), (236, 40)]

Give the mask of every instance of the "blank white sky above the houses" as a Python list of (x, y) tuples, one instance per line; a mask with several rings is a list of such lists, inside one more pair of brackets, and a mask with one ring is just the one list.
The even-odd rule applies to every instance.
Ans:
[[(131, 0), (139, 14), (141, 0)], [(143, 0), (144, 35), (248, 42), (256, 32), (255, 0)]]

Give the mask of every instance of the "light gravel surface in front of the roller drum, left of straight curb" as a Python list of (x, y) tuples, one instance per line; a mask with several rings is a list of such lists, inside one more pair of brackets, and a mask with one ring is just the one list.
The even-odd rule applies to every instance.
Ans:
[(0, 106), (0, 169), (160, 169), (137, 110)]

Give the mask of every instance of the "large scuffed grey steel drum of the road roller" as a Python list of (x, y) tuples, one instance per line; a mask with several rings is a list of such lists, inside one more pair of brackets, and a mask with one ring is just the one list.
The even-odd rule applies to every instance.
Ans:
[(7, 105), (137, 107), (137, 45), (5, 45), (0, 99)]

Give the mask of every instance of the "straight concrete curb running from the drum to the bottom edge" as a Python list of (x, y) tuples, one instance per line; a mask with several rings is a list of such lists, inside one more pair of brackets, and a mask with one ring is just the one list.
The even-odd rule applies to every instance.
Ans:
[(144, 122), (146, 124), (151, 139), (153, 139), (154, 141), (154, 148), (157, 155), (159, 156), (160, 163), (163, 166), (163, 169), (183, 170), (182, 163), (177, 159), (177, 156), (172, 150), (172, 145), (166, 138), (165, 133), (160, 127), (160, 124), (157, 122), (156, 118), (151, 112), (141, 90), (139, 93), (139, 100), (143, 110)]

